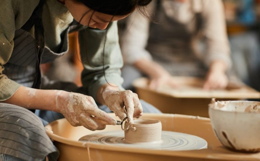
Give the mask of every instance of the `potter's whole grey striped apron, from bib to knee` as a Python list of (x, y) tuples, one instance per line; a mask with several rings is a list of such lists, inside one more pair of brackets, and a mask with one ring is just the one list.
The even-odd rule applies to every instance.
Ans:
[[(41, 0), (39, 5), (41, 2), (45, 1)], [(32, 87), (37, 65), (40, 65), (37, 61), (50, 63), (67, 53), (68, 33), (73, 28), (75, 25), (64, 31), (59, 53), (44, 46), (41, 61), (37, 60), (35, 38), (24, 29), (16, 30), (14, 49), (9, 61), (4, 65), (3, 74), (20, 85)], [(52, 113), (49, 117), (56, 120), (62, 118), (63, 115)], [(46, 124), (45, 120), (25, 108), (0, 103), (0, 160), (42, 161), (46, 156), (50, 161), (57, 160), (59, 151), (45, 133), (44, 125)]]

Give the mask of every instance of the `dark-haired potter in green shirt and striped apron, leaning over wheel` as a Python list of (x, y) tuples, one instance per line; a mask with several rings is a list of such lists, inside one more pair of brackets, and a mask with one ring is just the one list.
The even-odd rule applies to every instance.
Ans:
[[(46, 156), (57, 160), (59, 150), (44, 125), (60, 118), (72, 126), (102, 130), (116, 124), (105, 111), (113, 111), (120, 119), (128, 116), (130, 123), (142, 115), (145, 107), (137, 94), (122, 88), (116, 21), (136, 9), (145, 12), (150, 2), (0, 1), (0, 160), (42, 161)], [(80, 48), (82, 88), (41, 75), (41, 67), (68, 52), (72, 32), (77, 32)], [(61, 70), (68, 77), (73, 75), (66, 68)], [(147, 112), (160, 112), (146, 105), (151, 107)]]

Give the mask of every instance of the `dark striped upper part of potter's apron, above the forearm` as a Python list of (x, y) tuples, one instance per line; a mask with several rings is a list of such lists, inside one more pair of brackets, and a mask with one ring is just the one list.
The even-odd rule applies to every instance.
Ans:
[[(70, 28), (64, 32), (64, 37), (59, 53), (55, 53), (45, 46), (41, 57), (41, 63), (50, 63), (54, 59), (64, 55), (68, 51), (68, 32)], [(15, 31), (14, 49), (9, 61), (4, 65), (5, 70), (3, 74), (7, 75), (13, 81), (32, 87), (35, 77), (35, 66), (37, 57), (35, 54), (35, 40), (34, 37), (23, 29)]]

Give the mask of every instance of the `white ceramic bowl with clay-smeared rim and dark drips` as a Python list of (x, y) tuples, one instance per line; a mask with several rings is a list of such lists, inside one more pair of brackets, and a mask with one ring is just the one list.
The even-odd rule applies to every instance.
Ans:
[(260, 102), (212, 99), (209, 115), (216, 136), (228, 149), (260, 151)]

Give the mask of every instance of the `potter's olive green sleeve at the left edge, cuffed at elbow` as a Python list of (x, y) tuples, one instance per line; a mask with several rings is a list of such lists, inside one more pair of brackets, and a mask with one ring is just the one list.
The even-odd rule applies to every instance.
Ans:
[(20, 87), (18, 83), (3, 74), (4, 65), (10, 59), (14, 48), (15, 30), (29, 19), (39, 1), (0, 1), (0, 102), (10, 98)]

